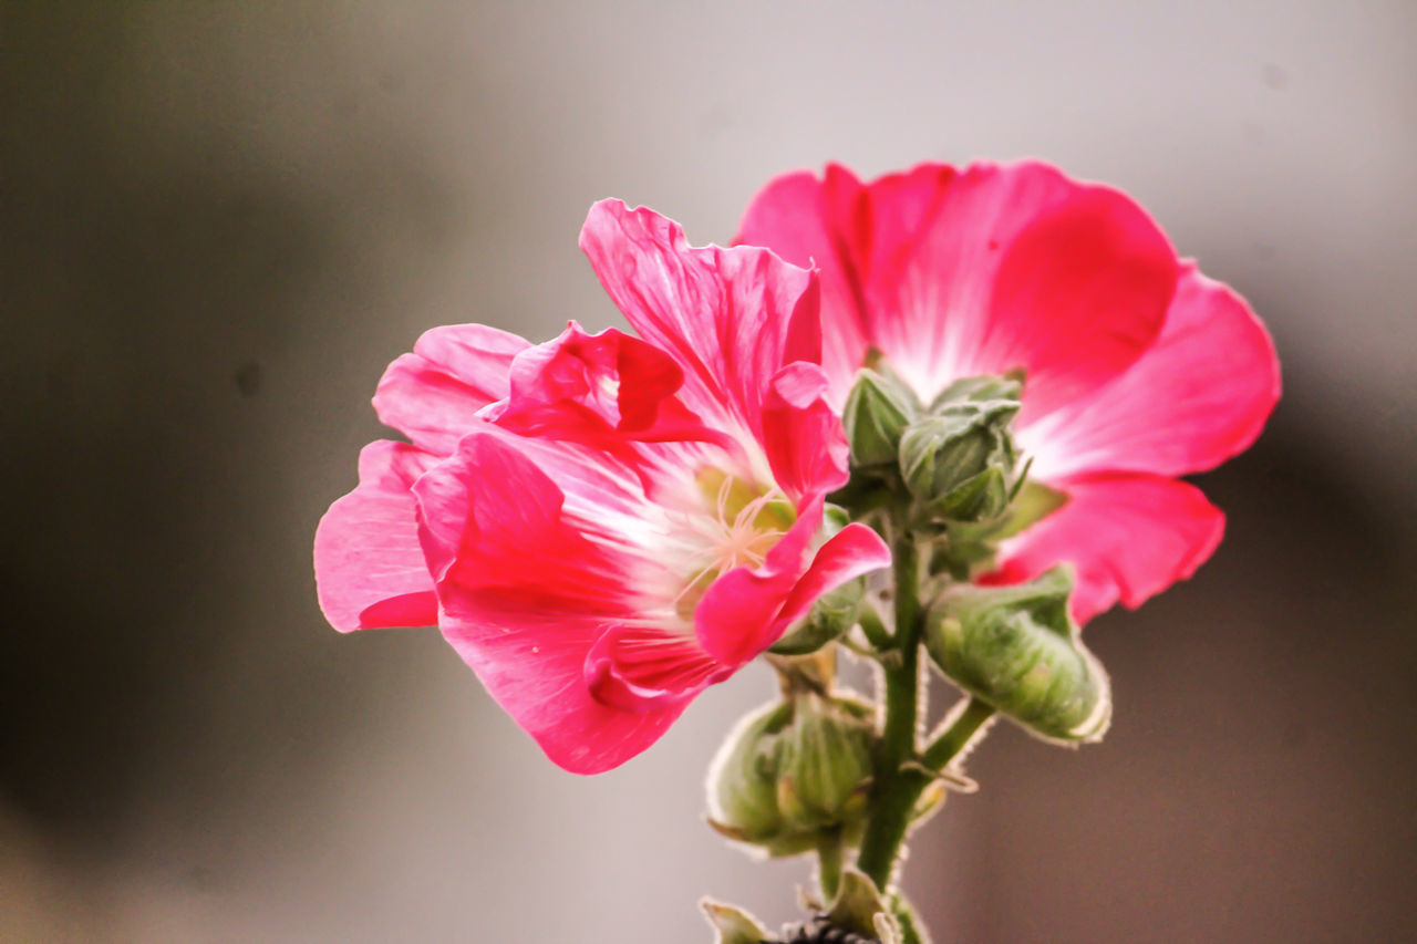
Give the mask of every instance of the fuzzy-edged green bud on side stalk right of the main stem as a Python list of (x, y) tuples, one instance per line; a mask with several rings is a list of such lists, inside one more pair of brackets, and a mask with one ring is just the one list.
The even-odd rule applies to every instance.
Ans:
[(1111, 685), (1068, 615), (1070, 567), (1016, 587), (959, 585), (928, 612), (925, 648), (949, 679), (1040, 737), (1100, 741)]

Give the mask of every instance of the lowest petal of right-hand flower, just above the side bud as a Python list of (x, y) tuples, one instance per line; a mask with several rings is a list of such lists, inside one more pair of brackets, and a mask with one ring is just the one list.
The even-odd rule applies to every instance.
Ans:
[(981, 583), (1013, 584), (1071, 563), (1071, 608), (1080, 624), (1117, 601), (1139, 607), (1189, 578), (1224, 533), (1224, 515), (1186, 482), (1098, 473), (1051, 485), (1067, 493), (1067, 503), (1005, 541), (999, 568)]

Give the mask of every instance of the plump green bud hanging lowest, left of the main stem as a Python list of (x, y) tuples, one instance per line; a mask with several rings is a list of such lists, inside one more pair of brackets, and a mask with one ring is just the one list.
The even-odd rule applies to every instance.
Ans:
[(738, 842), (789, 856), (825, 829), (860, 832), (871, 777), (871, 709), (798, 695), (745, 717), (708, 774), (710, 825)]

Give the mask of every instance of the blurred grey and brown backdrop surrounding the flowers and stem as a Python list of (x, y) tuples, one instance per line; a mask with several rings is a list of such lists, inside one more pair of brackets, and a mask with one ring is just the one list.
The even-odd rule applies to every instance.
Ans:
[(806, 867), (700, 822), (764, 670), (594, 780), (434, 631), (330, 631), (310, 537), (384, 364), (615, 323), (619, 196), (1047, 157), (1275, 335), (1216, 557), (1088, 639), (1117, 723), (999, 731), (913, 842), (949, 941), (1417, 937), (1417, 6), (4, 3), (0, 938), (707, 941)]

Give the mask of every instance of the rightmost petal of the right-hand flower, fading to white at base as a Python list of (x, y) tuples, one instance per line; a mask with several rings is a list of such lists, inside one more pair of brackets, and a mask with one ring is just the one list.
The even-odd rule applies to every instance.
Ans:
[(1274, 342), (1244, 299), (1193, 266), (1156, 343), (1094, 394), (1019, 432), (1041, 478), (1185, 475), (1244, 451), (1280, 398)]

